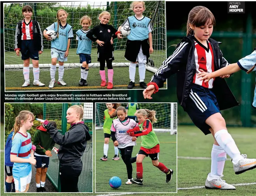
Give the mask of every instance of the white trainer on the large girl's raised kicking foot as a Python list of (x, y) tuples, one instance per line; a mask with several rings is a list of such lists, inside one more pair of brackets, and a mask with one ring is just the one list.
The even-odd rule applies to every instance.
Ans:
[(243, 159), (233, 165), (235, 174), (242, 174), (248, 170), (256, 168), (256, 159), (247, 159), (246, 154), (241, 154)]

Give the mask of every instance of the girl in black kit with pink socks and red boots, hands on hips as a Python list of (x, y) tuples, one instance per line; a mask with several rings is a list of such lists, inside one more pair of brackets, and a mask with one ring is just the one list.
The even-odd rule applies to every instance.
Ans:
[(117, 36), (115, 33), (117, 30), (108, 24), (110, 19), (109, 12), (102, 12), (99, 15), (100, 24), (95, 26), (90, 30), (86, 36), (91, 39), (93, 42), (98, 44), (98, 61), (100, 62), (100, 76), (101, 76), (101, 85), (106, 86), (106, 75), (105, 75), (105, 61), (108, 67), (108, 86), (107, 89), (113, 88), (113, 67), (112, 61), (114, 60), (114, 48), (113, 48), (113, 39)]

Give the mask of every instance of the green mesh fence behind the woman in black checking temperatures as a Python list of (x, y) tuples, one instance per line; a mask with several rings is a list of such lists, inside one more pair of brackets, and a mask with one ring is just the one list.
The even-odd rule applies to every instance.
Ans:
[[(57, 128), (62, 134), (70, 128), (67, 124), (66, 112), (68, 107), (72, 104), (70, 103), (44, 103), (43, 104), (43, 119), (48, 119), (49, 121), (55, 121)], [(87, 141), (87, 146), (83, 156), (81, 157), (83, 168), (79, 176), (78, 189), (79, 192), (92, 192), (93, 188), (93, 103), (82, 103), (84, 108), (83, 121), (89, 127), (89, 133), (91, 139)], [(55, 144), (56, 148), (60, 146)], [(58, 155), (53, 153), (50, 157), (49, 168), (47, 170), (47, 177), (52, 182), (56, 190), (60, 192), (60, 178), (59, 178), (59, 158)]]

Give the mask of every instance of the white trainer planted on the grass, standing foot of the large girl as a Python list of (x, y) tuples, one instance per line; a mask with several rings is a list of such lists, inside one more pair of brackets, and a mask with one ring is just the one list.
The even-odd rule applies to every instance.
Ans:
[(236, 190), (236, 187), (226, 183), (225, 180), (222, 180), (222, 177), (223, 175), (221, 175), (219, 179), (214, 179), (211, 181), (208, 181), (206, 179), (206, 184), (205, 184), (206, 189)]

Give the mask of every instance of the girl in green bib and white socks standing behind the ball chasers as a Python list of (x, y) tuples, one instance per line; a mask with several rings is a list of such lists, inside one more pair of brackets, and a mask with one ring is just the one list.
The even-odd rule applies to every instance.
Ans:
[[(106, 103), (107, 109), (104, 111), (104, 124), (103, 124), (103, 132), (104, 132), (104, 147), (103, 147), (103, 157), (100, 158), (102, 161), (108, 160), (108, 143), (110, 139), (110, 128), (112, 125), (112, 118), (110, 115), (114, 113), (117, 107), (121, 106), (119, 103)], [(119, 160), (118, 148), (115, 148), (115, 155), (112, 160)]]

